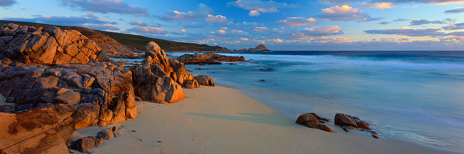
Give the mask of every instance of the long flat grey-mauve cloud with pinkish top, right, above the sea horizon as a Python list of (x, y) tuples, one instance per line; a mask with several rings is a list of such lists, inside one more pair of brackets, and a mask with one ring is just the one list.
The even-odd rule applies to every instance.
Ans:
[(403, 35), (409, 37), (425, 37), (425, 36), (446, 36), (446, 33), (439, 32), (440, 28), (388, 28), (383, 30), (365, 30), (367, 34), (386, 34), (386, 35)]

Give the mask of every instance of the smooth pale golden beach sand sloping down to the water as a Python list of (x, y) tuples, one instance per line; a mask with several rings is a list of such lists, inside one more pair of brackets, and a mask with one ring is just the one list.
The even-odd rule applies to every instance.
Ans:
[[(311, 129), (265, 104), (225, 87), (184, 89), (179, 102), (137, 102), (138, 116), (106, 127), (76, 130), (69, 140), (119, 127), (119, 137), (92, 154), (453, 154), (404, 140), (367, 133)], [(315, 112), (317, 111), (308, 111)], [(357, 133), (359, 132), (359, 133)], [(381, 132), (378, 132), (381, 134)], [(77, 151), (72, 151), (78, 153)]]

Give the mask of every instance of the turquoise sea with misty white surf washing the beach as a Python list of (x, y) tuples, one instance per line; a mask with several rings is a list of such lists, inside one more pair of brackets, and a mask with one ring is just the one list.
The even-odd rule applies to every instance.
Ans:
[[(365, 120), (381, 138), (464, 151), (463, 51), (219, 54), (250, 61), (186, 67), (293, 119), (310, 112), (329, 119), (343, 113)], [(274, 70), (259, 70), (263, 67)]]

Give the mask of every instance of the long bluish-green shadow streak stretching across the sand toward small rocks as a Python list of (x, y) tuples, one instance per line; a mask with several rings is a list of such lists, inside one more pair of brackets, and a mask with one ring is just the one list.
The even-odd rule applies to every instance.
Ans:
[[(211, 117), (211, 118), (218, 118), (218, 119), (227, 119), (227, 120), (237, 120), (237, 121), (246, 121), (246, 122), (253, 122), (253, 123), (261, 123), (261, 124), (268, 124), (268, 125), (275, 125), (275, 126), (285, 126), (285, 127), (297, 127), (289, 117), (282, 116), (275, 113), (268, 113), (268, 114), (253, 114), (253, 113), (236, 113), (244, 116), (227, 116), (227, 115), (214, 115), (214, 114), (201, 114), (201, 113), (184, 113), (187, 115), (193, 116), (203, 116), (203, 117)], [(253, 116), (253, 117), (250, 117)]]

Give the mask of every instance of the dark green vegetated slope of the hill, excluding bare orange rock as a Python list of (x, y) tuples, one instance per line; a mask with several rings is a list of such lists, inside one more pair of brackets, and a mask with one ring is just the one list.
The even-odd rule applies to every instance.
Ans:
[[(34, 26), (34, 27), (43, 27), (43, 28), (50, 28), (57, 25), (50, 25), (50, 24), (43, 24), (43, 23), (35, 23), (35, 22), (22, 22), (22, 21), (8, 21), (8, 20), (0, 20), (0, 25), (8, 24), (8, 23), (15, 23), (19, 25), (27, 25), (27, 26)], [(57, 26), (61, 29), (67, 30), (77, 30), (81, 32), (83, 35), (89, 37), (92, 36), (92, 33), (101, 33), (107, 35), (119, 43), (127, 46), (128, 48), (136, 48), (138, 50), (145, 50), (145, 45), (148, 42), (154, 41), (156, 42), (162, 49), (170, 50), (170, 51), (222, 51), (222, 47), (219, 46), (209, 46), (206, 44), (196, 44), (196, 43), (184, 43), (184, 42), (175, 42), (170, 40), (164, 39), (154, 39), (148, 38), (138, 35), (131, 35), (131, 34), (123, 34), (123, 33), (114, 33), (114, 32), (106, 32), (106, 31), (99, 31), (99, 30), (89, 30), (83, 27), (76, 27), (76, 26)]]

